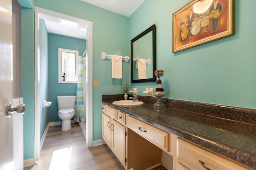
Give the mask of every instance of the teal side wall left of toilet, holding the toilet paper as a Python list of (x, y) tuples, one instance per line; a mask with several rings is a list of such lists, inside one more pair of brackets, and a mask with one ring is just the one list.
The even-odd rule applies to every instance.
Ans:
[(44, 130), (48, 123), (48, 109), (49, 107), (43, 107), (43, 100), (47, 101), (48, 94), (48, 31), (44, 20), (40, 19), (40, 139), (44, 134)]

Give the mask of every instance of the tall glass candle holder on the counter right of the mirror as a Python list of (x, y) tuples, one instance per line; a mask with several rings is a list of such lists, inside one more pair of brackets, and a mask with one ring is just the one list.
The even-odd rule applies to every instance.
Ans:
[(154, 96), (157, 97), (157, 101), (154, 103), (154, 107), (164, 108), (166, 107), (166, 104), (164, 104), (162, 101), (162, 97), (165, 96), (165, 93), (164, 89), (162, 88), (162, 80), (160, 80), (160, 77), (164, 75), (164, 70), (155, 70), (154, 74), (156, 77), (158, 77), (158, 80), (156, 81), (156, 91), (154, 92)]

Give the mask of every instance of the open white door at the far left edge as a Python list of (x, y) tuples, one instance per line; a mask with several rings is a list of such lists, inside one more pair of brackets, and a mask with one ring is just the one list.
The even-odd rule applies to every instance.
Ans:
[(0, 0), (0, 170), (13, 170), (12, 117), (5, 104), (12, 102), (12, 0)]

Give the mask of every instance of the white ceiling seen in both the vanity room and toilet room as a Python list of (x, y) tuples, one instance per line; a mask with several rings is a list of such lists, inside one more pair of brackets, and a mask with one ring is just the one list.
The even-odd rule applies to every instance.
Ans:
[[(145, 0), (81, 0), (88, 4), (98, 6), (105, 10), (112, 11), (114, 13), (130, 17), (134, 11)], [(68, 37), (74, 37), (79, 39), (87, 39), (86, 27), (78, 25), (74, 22), (58, 20), (50, 21), (44, 20), (48, 33), (54, 33), (58, 35), (64, 35)]]

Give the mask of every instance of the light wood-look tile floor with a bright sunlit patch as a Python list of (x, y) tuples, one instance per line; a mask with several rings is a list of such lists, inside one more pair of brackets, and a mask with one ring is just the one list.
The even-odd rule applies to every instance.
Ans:
[[(125, 170), (108, 146), (87, 148), (78, 123), (70, 131), (48, 129), (38, 164), (24, 170)], [(166, 170), (163, 166), (154, 170)]]

